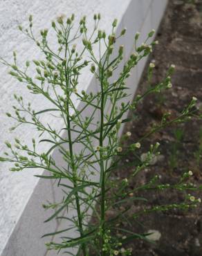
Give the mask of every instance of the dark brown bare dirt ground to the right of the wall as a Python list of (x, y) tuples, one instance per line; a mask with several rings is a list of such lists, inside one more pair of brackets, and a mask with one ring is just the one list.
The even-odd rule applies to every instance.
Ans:
[[(170, 64), (176, 65), (172, 77), (173, 88), (165, 93), (149, 95), (138, 107), (138, 118), (130, 122), (125, 131), (131, 131), (129, 143), (134, 143), (146, 134), (152, 125), (160, 122), (165, 111), (177, 116), (192, 96), (198, 98), (197, 108), (202, 107), (202, 0), (169, 0), (165, 17), (156, 39), (158, 46), (152, 54), (156, 68), (153, 82), (158, 83), (165, 75)], [(137, 93), (141, 94), (147, 86), (147, 73), (143, 75)], [(131, 188), (136, 184), (146, 183), (154, 174), (161, 176), (162, 183), (176, 183), (183, 172), (192, 170), (192, 183), (201, 184), (202, 167), (202, 122), (192, 120), (181, 125), (172, 125), (154, 134), (143, 142), (138, 151), (147, 152), (149, 145), (160, 143), (160, 157), (155, 165), (147, 167), (138, 179), (131, 181)], [(142, 152), (141, 152), (142, 150)], [(134, 161), (131, 154), (122, 163), (118, 176), (125, 177), (132, 167), (125, 165)], [(184, 198), (183, 193), (173, 190), (165, 192), (144, 192), (138, 196), (148, 199), (147, 207), (152, 205), (178, 202)], [(194, 194), (194, 193), (192, 193)], [(202, 198), (202, 192), (195, 193)], [(132, 211), (141, 206), (135, 201)], [(144, 215), (132, 222), (130, 229), (137, 233), (158, 230), (160, 239), (155, 244), (135, 240), (127, 247), (133, 248), (134, 256), (202, 256), (202, 205), (194, 210), (183, 212), (170, 210)], [(126, 216), (127, 217), (127, 216)], [(127, 228), (129, 223), (122, 221)]]

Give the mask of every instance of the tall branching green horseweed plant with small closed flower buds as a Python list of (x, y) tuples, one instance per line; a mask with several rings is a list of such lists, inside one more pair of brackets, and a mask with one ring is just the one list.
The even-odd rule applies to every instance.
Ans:
[[(51, 241), (46, 244), (48, 250), (62, 250), (68, 255), (131, 255), (131, 249), (127, 247), (129, 241), (139, 238), (147, 239), (147, 235), (138, 235), (130, 230), (118, 228), (122, 218), (129, 208), (121, 207), (125, 203), (138, 198), (136, 192), (142, 190), (197, 190), (192, 183), (186, 183), (192, 172), (186, 172), (177, 184), (161, 184), (158, 176), (154, 176), (149, 183), (140, 185), (134, 189), (129, 186), (130, 179), (137, 176), (152, 158), (159, 154), (159, 143), (151, 145), (147, 156), (140, 161), (134, 172), (126, 174), (125, 179), (115, 179), (113, 174), (116, 167), (129, 152), (136, 152), (141, 146), (141, 141), (153, 134), (158, 129), (171, 125), (174, 122), (190, 120), (194, 114), (196, 98), (192, 98), (190, 104), (180, 115), (170, 120), (169, 113), (163, 116), (160, 124), (152, 127), (148, 134), (133, 144), (123, 147), (123, 141), (131, 136), (127, 131), (119, 140), (120, 128), (129, 121), (127, 111), (136, 111), (138, 102), (149, 93), (159, 93), (172, 87), (171, 77), (174, 65), (168, 68), (165, 78), (158, 84), (152, 84), (154, 64), (149, 65), (149, 86), (143, 95), (136, 95), (131, 102), (126, 86), (130, 71), (141, 59), (152, 52), (152, 48), (158, 42), (149, 43), (152, 39), (152, 30), (145, 42), (138, 46), (138, 37), (134, 37), (135, 50), (125, 63), (123, 58), (124, 46), (117, 48), (118, 39), (125, 35), (124, 28), (116, 37), (115, 29), (117, 20), (112, 24), (112, 32), (106, 35), (104, 30), (98, 28), (100, 14), (94, 15), (94, 28), (89, 31), (86, 27), (86, 17), (82, 17), (76, 30), (74, 15), (64, 20), (58, 17), (52, 22), (52, 30), (55, 32), (58, 48), (53, 51), (48, 40), (48, 30), (41, 30), (41, 39), (37, 40), (33, 33), (33, 17), (29, 17), (29, 28), (19, 30), (33, 40), (44, 56), (43, 60), (26, 62), (25, 68), (17, 66), (17, 54), (13, 53), (13, 64), (1, 58), (1, 63), (10, 68), (10, 75), (26, 85), (30, 93), (42, 95), (53, 107), (35, 111), (30, 102), (24, 102), (21, 96), (14, 95), (17, 107), (13, 107), (14, 113), (6, 113), (9, 118), (19, 125), (32, 125), (39, 131), (39, 138), (33, 138), (31, 147), (15, 138), (15, 145), (6, 142), (8, 152), (4, 152), (1, 161), (13, 163), (12, 172), (19, 172), (28, 168), (45, 170), (43, 175), (36, 175), (44, 179), (54, 179), (57, 187), (61, 188), (64, 196), (58, 203), (44, 205), (46, 209), (55, 209), (46, 221), (63, 219), (66, 221), (66, 229), (57, 230), (48, 235), (62, 234), (60, 242)], [(75, 32), (74, 32), (75, 31)], [(82, 49), (77, 50), (75, 42), (81, 40)], [(98, 53), (98, 54), (97, 54)], [(112, 57), (115, 56), (115, 57)], [(84, 60), (85, 59), (85, 60)], [(123, 63), (123, 65), (122, 65)], [(114, 72), (122, 65), (122, 71), (113, 80)], [(29, 67), (34, 66), (36, 76), (31, 77)], [(98, 88), (95, 93), (82, 91), (80, 86), (80, 74), (90, 71), (97, 80)], [(75, 107), (75, 102), (80, 102)], [(54, 113), (55, 118), (61, 118), (64, 126), (56, 129), (42, 118), (44, 114)], [(88, 116), (85, 116), (89, 113)], [(98, 118), (99, 117), (99, 118)], [(52, 115), (53, 118), (53, 115)], [(63, 132), (63, 134), (62, 134)], [(40, 138), (42, 136), (42, 138)], [(47, 152), (39, 153), (37, 145), (46, 143), (50, 145)], [(124, 149), (123, 149), (124, 148)], [(62, 164), (58, 165), (54, 160), (53, 149), (58, 150)], [(113, 176), (113, 179), (110, 177)], [(187, 209), (196, 207), (199, 199), (188, 194), (185, 201), (170, 205), (156, 205), (153, 208), (144, 207), (131, 217), (136, 219), (142, 214), (154, 211), (164, 211), (171, 208)], [(145, 205), (146, 199), (143, 200)], [(73, 217), (68, 217), (68, 210), (73, 210)], [(115, 216), (109, 217), (109, 211)], [(93, 214), (93, 221), (90, 220)], [(65, 224), (64, 224), (65, 225)], [(71, 231), (71, 233), (69, 233)], [(116, 235), (116, 231), (119, 235)], [(65, 235), (66, 234), (66, 235)], [(76, 235), (76, 237), (75, 237)], [(58, 239), (57, 239), (58, 241)], [(76, 253), (73, 253), (73, 248)]]

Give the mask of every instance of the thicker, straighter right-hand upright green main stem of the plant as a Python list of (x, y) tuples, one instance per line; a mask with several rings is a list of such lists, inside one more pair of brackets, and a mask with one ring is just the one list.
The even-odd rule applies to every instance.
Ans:
[(101, 182), (101, 255), (104, 256), (105, 253), (102, 250), (104, 244), (104, 217), (105, 217), (105, 174), (104, 174), (104, 161), (102, 156), (103, 147), (103, 126), (104, 126), (104, 90), (103, 90), (103, 71), (101, 75), (101, 109), (100, 109), (100, 182)]

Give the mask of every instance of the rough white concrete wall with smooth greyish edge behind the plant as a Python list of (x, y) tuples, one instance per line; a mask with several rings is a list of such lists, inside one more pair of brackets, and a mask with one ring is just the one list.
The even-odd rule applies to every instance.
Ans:
[[(27, 24), (27, 17), (33, 14), (35, 30), (49, 28), (50, 21), (58, 15), (71, 15), (72, 12), (79, 19), (82, 15), (92, 17), (93, 13), (100, 12), (102, 15), (101, 28), (110, 32), (110, 26), (116, 17), (119, 20), (117, 33), (127, 27), (127, 34), (120, 44), (126, 47), (125, 60), (133, 50), (134, 34), (140, 31), (140, 42), (146, 37), (149, 30), (158, 28), (167, 0), (0, 0), (0, 55), (8, 61), (11, 60), (12, 50), (16, 50), (20, 62), (33, 60), (39, 57), (39, 53), (32, 42), (21, 35), (17, 25)], [(93, 24), (89, 23), (89, 26)], [(128, 80), (131, 92), (136, 91), (140, 75), (146, 60), (143, 60)], [(24, 98), (33, 103), (35, 109), (43, 109), (47, 102), (41, 98), (33, 97), (26, 89), (7, 75), (8, 69), (0, 67), (0, 152), (5, 150), (3, 142), (12, 141), (16, 136), (26, 143), (30, 138), (37, 136), (37, 132), (31, 127), (21, 127), (10, 133), (8, 128), (12, 125), (10, 119), (5, 116), (6, 111), (12, 109), (15, 101), (13, 93), (23, 95)], [(82, 77), (85, 89), (95, 89), (95, 80), (91, 74)], [(46, 116), (45, 116), (46, 118)], [(50, 118), (48, 116), (47, 118)], [(62, 122), (50, 120), (55, 127), (62, 127)], [(28, 141), (28, 142), (27, 142)], [(42, 151), (46, 150), (46, 145)], [(57, 152), (53, 152), (58, 158)], [(44, 241), (40, 237), (53, 230), (57, 230), (62, 223), (44, 224), (50, 212), (45, 212), (42, 203), (46, 200), (59, 199), (61, 194), (55, 190), (50, 181), (40, 180), (33, 177), (33, 172), (10, 173), (9, 164), (0, 164), (0, 255), (1, 256), (41, 256), (55, 255), (55, 252), (46, 252)], [(39, 171), (35, 170), (39, 174)], [(56, 192), (57, 191), (57, 192)]]

